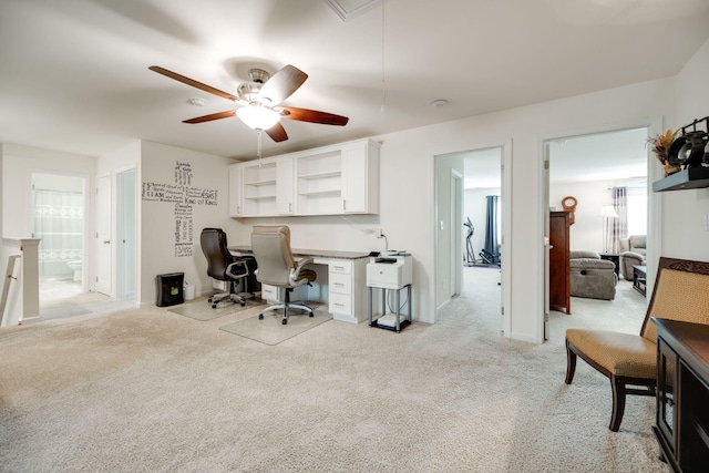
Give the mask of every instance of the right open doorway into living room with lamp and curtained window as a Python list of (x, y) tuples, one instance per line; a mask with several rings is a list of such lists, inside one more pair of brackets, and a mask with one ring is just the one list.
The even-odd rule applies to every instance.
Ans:
[[(568, 212), (569, 207), (565, 204), (575, 203), (573, 223), (568, 226), (569, 249), (595, 251), (603, 259), (615, 263), (618, 274), (615, 298), (593, 301), (600, 302), (606, 309), (613, 304), (623, 305), (624, 313), (630, 308), (633, 313), (627, 316), (638, 317), (640, 320), (645, 315), (646, 302), (629, 290), (631, 280), (625, 278), (620, 255), (626, 249), (628, 235), (644, 235), (649, 239), (647, 137), (648, 127), (643, 126), (544, 142), (544, 181), (548, 209), (545, 213), (545, 241), (549, 237), (549, 212)], [(614, 212), (608, 214), (608, 208), (614, 208)], [(602, 214), (602, 210), (605, 212)], [(548, 254), (547, 245), (545, 261), (548, 261)], [(548, 264), (545, 264), (546, 301), (549, 295), (548, 270)], [(575, 304), (582, 307), (592, 300), (574, 297), (573, 291), (571, 294), (572, 315), (575, 313)], [(549, 323), (556, 315), (545, 304), (545, 339), (549, 336)]]

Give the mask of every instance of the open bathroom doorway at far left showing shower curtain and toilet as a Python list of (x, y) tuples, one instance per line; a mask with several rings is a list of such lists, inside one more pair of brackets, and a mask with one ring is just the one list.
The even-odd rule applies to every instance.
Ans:
[(86, 177), (32, 173), (31, 188), (42, 306), (85, 292)]

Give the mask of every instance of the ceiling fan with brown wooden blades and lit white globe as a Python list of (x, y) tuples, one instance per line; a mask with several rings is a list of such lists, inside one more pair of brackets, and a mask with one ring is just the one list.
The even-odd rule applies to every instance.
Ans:
[(250, 82), (244, 82), (238, 86), (238, 95), (220, 91), (158, 65), (151, 65), (147, 69), (210, 94), (230, 100), (239, 105), (244, 105), (237, 110), (185, 120), (183, 123), (203, 123), (237, 115), (247, 126), (257, 131), (264, 131), (275, 142), (281, 142), (288, 140), (288, 134), (284, 125), (280, 124), (280, 119), (337, 126), (346, 125), (349, 120), (347, 116), (319, 112), (317, 110), (279, 105), (308, 79), (308, 74), (290, 64), (276, 72), (273, 76), (263, 69), (249, 69), (248, 74)]

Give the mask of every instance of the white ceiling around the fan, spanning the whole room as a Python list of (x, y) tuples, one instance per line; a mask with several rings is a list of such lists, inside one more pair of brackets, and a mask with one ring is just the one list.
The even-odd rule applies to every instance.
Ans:
[(707, 24), (707, 0), (388, 0), (348, 21), (325, 0), (0, 0), (0, 142), (253, 158), (238, 119), (182, 123), (234, 103), (147, 68), (235, 93), (292, 64), (309, 79), (284, 104), (350, 122), (285, 121), (274, 155), (670, 76)]

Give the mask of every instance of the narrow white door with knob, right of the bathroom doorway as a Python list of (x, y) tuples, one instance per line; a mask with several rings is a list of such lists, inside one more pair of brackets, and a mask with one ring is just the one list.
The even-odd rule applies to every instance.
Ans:
[(96, 179), (96, 292), (111, 296), (111, 176)]

